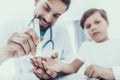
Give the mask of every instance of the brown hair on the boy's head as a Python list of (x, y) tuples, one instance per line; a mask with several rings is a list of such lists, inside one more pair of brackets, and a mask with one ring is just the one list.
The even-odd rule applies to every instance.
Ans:
[(87, 11), (85, 11), (85, 13), (83, 14), (82, 18), (81, 18), (81, 21), (80, 21), (80, 26), (84, 29), (84, 23), (86, 21), (86, 19), (91, 16), (92, 14), (94, 14), (95, 12), (99, 12), (101, 17), (104, 18), (107, 22), (108, 22), (108, 19), (107, 19), (107, 14), (105, 12), (105, 10), (103, 9), (96, 9), (96, 8), (91, 8)]

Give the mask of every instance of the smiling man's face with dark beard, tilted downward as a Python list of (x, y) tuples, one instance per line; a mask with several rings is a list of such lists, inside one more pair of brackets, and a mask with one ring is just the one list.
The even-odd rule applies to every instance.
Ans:
[(39, 0), (34, 15), (39, 18), (41, 31), (51, 27), (66, 8), (67, 6), (60, 0)]

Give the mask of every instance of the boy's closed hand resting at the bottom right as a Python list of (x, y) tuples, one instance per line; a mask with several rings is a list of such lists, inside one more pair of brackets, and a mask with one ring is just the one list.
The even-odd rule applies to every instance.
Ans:
[(114, 80), (115, 76), (112, 69), (106, 69), (97, 65), (90, 65), (86, 71), (85, 75), (90, 78), (102, 78), (105, 80)]

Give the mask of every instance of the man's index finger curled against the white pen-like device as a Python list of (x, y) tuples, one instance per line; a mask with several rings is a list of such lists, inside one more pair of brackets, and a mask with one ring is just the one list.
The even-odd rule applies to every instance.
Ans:
[(34, 29), (30, 28), (28, 29), (25, 34), (28, 34), (29, 36), (31, 36), (32, 40), (34, 41), (34, 43), (37, 45), (39, 43), (39, 36), (37, 35), (37, 33), (34, 31)]

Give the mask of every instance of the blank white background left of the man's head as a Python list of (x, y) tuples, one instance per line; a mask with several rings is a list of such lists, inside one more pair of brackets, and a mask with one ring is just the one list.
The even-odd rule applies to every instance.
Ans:
[(34, 0), (0, 0), (0, 25), (19, 19), (26, 20), (32, 15), (33, 9)]

